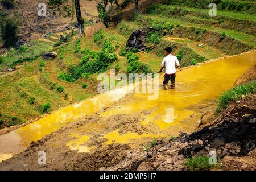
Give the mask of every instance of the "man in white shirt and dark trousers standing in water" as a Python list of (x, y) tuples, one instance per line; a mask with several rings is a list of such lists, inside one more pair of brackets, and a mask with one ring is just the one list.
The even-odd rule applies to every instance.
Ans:
[(165, 49), (166, 57), (164, 57), (163, 62), (161, 64), (161, 68), (159, 73), (166, 68), (166, 74), (164, 75), (163, 87), (165, 90), (168, 90), (168, 82), (171, 80), (171, 89), (175, 89), (175, 78), (176, 78), (176, 67), (180, 67), (179, 60), (176, 56), (172, 55), (172, 48), (167, 47)]

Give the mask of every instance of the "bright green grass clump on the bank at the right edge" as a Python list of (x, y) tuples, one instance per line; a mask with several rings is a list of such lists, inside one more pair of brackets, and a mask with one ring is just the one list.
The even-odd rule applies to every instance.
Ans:
[(249, 84), (237, 86), (231, 90), (226, 91), (218, 99), (217, 113), (221, 110), (226, 109), (229, 102), (237, 101), (242, 98), (242, 95), (249, 95), (251, 93), (256, 93), (256, 81), (252, 81)]

